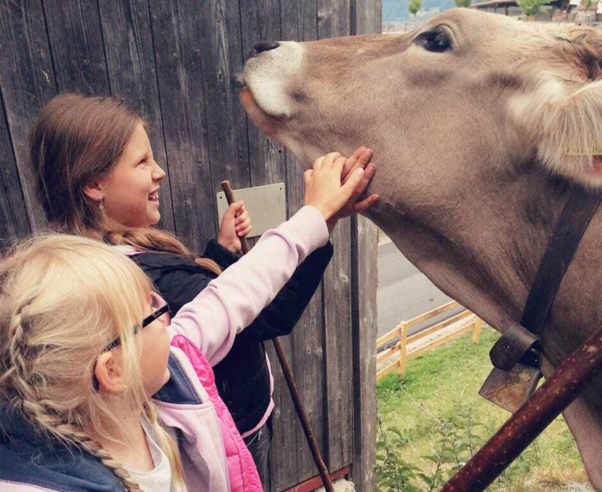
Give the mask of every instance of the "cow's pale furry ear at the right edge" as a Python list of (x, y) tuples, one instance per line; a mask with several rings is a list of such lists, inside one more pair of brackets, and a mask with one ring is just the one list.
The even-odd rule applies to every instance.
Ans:
[(567, 89), (559, 82), (538, 94), (533, 137), (552, 172), (602, 187), (602, 81)]

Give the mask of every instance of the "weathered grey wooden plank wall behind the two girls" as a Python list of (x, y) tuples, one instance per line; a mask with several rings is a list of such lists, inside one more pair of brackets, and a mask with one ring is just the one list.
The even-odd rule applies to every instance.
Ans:
[[(149, 123), (166, 170), (160, 226), (202, 251), (217, 230), (216, 192), (284, 181), (302, 204), (300, 165), (238, 103), (246, 54), (259, 40), (380, 32), (376, 0), (0, 0), (0, 247), (43, 229), (26, 135), (58, 92), (122, 98)], [(284, 339), (331, 470), (351, 465), (374, 490), (376, 232), (342, 221), (321, 288)], [(359, 295), (359, 293), (362, 293)], [(271, 490), (316, 475), (278, 367)]]

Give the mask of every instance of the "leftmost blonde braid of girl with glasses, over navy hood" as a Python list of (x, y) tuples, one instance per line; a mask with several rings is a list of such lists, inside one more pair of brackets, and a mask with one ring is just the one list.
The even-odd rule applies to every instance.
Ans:
[[(14, 395), (13, 405), (19, 406), (20, 412), (37, 428), (43, 429), (48, 434), (58, 438), (65, 444), (76, 444), (84, 448), (92, 456), (96, 456), (104, 466), (110, 469), (123, 484), (126, 490), (132, 492), (140, 492), (140, 486), (132, 481), (128, 470), (123, 468), (121, 462), (113, 459), (102, 447), (102, 444), (93, 440), (90, 435), (78, 426), (65, 422), (59, 416), (61, 409), (56, 408), (54, 402), (50, 400), (37, 401), (35, 385), (32, 384), (31, 374), (27, 364), (28, 358), (25, 354), (28, 352), (27, 339), (25, 329), (23, 329), (23, 311), (26, 306), (20, 308), (15, 314), (10, 324), (9, 333), (13, 332), (13, 337), (10, 343), (10, 360), (12, 367), (2, 377), (2, 382), (5, 379), (11, 379), (11, 387), (17, 393)], [(18, 395), (18, 396), (17, 396)]]

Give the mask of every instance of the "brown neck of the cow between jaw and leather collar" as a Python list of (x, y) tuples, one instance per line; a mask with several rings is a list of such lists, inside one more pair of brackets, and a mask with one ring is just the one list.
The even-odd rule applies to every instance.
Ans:
[(535, 171), (496, 182), (478, 203), (462, 201), (448, 227), (414, 219), (411, 210), (399, 213), (386, 202), (371, 218), (435, 285), (504, 331), (520, 320), (568, 197), (566, 183), (535, 164), (529, 169)]

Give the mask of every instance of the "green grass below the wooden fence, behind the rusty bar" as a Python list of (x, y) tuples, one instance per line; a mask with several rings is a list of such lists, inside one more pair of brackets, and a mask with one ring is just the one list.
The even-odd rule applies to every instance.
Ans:
[[(480, 344), (473, 344), (469, 333), (409, 361), (404, 378), (392, 373), (377, 383), (385, 438), (400, 461), (415, 467), (415, 474), (435, 475), (436, 462), (432, 458), (441, 455), (445, 435), (453, 434), (455, 444), (462, 447), (465, 456), (470, 456), (469, 448), (478, 448), (509, 417), (509, 413), (478, 394), (491, 370), (488, 352), (497, 337), (493, 329), (484, 327)], [(379, 440), (382, 439), (379, 432)], [(442, 478), (453, 473), (457, 461), (465, 459), (448, 461), (453, 463), (439, 466)], [(412, 479), (410, 484), (408, 490), (412, 486), (414, 490), (429, 490), (419, 478)], [(588, 490), (566, 488), (569, 484), (587, 484), (587, 479), (573, 437), (559, 417), (488, 490)], [(379, 490), (397, 490), (397, 487), (385, 486), (381, 480)], [(433, 490), (436, 490), (434, 485)]]

